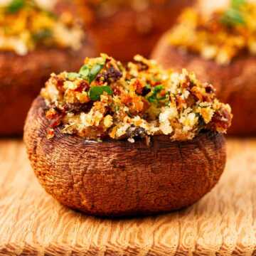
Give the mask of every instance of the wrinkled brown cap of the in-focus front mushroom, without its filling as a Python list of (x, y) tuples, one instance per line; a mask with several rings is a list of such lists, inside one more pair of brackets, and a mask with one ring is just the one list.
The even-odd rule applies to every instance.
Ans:
[(46, 104), (38, 97), (24, 132), (38, 180), (63, 205), (102, 216), (148, 215), (198, 201), (225, 167), (222, 134), (202, 132), (187, 142), (169, 137), (138, 141), (88, 142), (55, 131), (47, 139)]

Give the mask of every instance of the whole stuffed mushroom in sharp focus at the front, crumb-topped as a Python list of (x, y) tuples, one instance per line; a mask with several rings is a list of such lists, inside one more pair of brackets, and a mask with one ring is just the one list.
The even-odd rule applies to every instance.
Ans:
[(92, 215), (147, 215), (191, 206), (215, 186), (231, 119), (230, 106), (193, 73), (103, 54), (77, 73), (51, 75), (24, 141), (60, 203)]

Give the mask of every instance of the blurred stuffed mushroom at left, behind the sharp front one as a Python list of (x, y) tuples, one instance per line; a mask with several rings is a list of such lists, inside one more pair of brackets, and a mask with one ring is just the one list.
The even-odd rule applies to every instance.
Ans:
[(50, 73), (77, 70), (83, 55), (95, 54), (73, 4), (41, 2), (0, 6), (0, 136), (22, 134), (31, 102)]

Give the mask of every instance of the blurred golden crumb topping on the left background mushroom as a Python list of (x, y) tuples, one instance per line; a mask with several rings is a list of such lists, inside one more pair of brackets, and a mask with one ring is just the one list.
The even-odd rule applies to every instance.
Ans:
[(83, 36), (80, 22), (68, 11), (56, 16), (33, 0), (12, 0), (0, 6), (0, 50), (18, 55), (38, 46), (78, 50)]

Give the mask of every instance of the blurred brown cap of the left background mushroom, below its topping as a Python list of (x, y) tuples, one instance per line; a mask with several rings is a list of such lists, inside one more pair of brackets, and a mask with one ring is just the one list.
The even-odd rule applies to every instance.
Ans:
[(22, 134), (26, 114), (50, 73), (80, 68), (84, 57), (95, 55), (87, 38), (80, 50), (40, 48), (21, 56), (0, 53), (0, 135)]

